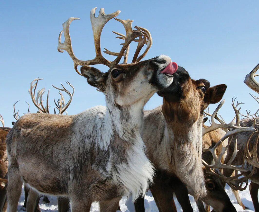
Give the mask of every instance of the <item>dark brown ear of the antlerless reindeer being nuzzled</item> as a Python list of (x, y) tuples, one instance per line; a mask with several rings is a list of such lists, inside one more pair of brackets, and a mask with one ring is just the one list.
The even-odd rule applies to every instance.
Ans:
[(206, 104), (218, 103), (222, 99), (226, 89), (227, 89), (227, 86), (225, 84), (216, 85), (211, 88), (208, 88), (206, 90), (206, 93), (203, 99), (204, 103)]

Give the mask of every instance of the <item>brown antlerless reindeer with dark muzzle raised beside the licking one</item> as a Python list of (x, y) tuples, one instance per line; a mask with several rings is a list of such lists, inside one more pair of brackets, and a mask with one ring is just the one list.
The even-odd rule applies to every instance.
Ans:
[(196, 200), (206, 196), (202, 111), (210, 103), (219, 102), (226, 88), (225, 84), (210, 87), (205, 79), (192, 80), (183, 67), (178, 67), (174, 82), (158, 92), (163, 97), (163, 105), (145, 111), (142, 136), (148, 157), (157, 170), (150, 190), (160, 211), (176, 211), (172, 206), (172, 184), (176, 179), (183, 186), (175, 192), (181, 193), (187, 185)]

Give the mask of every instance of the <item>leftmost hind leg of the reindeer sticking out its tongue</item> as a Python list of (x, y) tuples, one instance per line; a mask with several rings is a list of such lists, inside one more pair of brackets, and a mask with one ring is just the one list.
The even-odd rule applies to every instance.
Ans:
[(10, 160), (8, 168), (7, 186), (8, 212), (17, 211), (17, 205), (21, 195), (22, 185), (23, 183), (21, 181), (21, 176), (19, 175), (18, 164)]

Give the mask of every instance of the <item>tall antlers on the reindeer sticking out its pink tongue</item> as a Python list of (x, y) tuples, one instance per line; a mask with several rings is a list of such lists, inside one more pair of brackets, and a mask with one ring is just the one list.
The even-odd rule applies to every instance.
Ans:
[[(107, 54), (111, 54), (111, 55), (115, 55), (117, 56), (116, 59), (114, 59), (112, 62), (105, 59), (101, 53), (101, 48), (100, 48), (100, 36), (102, 33), (102, 29), (104, 27), (104, 25), (111, 20), (112, 18), (118, 16), (118, 14), (120, 13), (119, 10), (117, 10), (114, 13), (111, 14), (105, 14), (104, 13), (104, 9), (101, 8), (99, 11), (99, 15), (98, 17), (95, 17), (95, 10), (97, 7), (93, 8), (90, 12), (90, 20), (91, 20), (91, 25), (92, 25), (92, 30), (93, 30), (93, 39), (95, 42), (95, 53), (96, 53), (96, 57), (94, 59), (90, 59), (90, 60), (79, 60), (73, 52), (72, 49), (72, 45), (71, 45), (71, 37), (69, 34), (69, 25), (70, 23), (75, 20), (75, 19), (79, 19), (79, 18), (69, 18), (66, 22), (63, 23), (63, 30), (60, 32), (59, 34), (59, 44), (57, 46), (57, 50), (59, 52), (63, 52), (62, 50), (65, 50), (68, 52), (68, 54), (70, 55), (70, 57), (73, 59), (74, 61), (74, 68), (76, 70), (76, 72), (78, 74), (80, 74), (77, 70), (77, 66), (78, 65), (95, 65), (95, 64), (103, 64), (108, 66), (109, 68), (113, 67), (114, 65), (118, 64), (120, 62), (120, 59), (122, 56), (124, 56), (124, 62), (127, 61), (127, 56), (128, 56), (128, 49), (129, 49), (129, 45), (130, 43), (136, 38), (136, 37), (145, 37), (145, 42), (146, 42), (146, 38), (148, 38), (148, 42), (147, 42), (147, 49), (146, 51), (138, 58), (136, 59), (136, 61), (139, 61), (140, 59), (142, 59), (146, 54), (148, 49), (150, 48), (151, 44), (152, 44), (152, 38), (151, 35), (149, 33), (149, 31), (147, 29), (141, 28), (141, 27), (137, 27), (137, 30), (132, 30), (132, 20), (121, 20), (121, 19), (117, 19), (115, 18), (117, 21), (121, 22), (125, 28), (126, 31), (126, 36), (120, 34), (120, 33), (116, 33), (118, 35), (121, 36), (121, 38), (123, 40), (125, 40), (125, 42), (123, 43), (123, 46), (120, 50), (120, 52), (118, 53), (114, 53), (114, 52), (110, 52), (109, 50), (105, 49), (105, 53)], [(64, 37), (65, 37), (65, 41), (63, 43), (61, 43), (61, 35), (62, 32), (64, 32)], [(115, 33), (115, 32), (114, 32)], [(140, 46), (145, 44), (145, 42), (139, 38), (138, 40)], [(140, 51), (140, 48), (138, 45), (137, 50)], [(140, 48), (140, 49), (139, 49)], [(135, 60), (135, 59), (134, 59)], [(81, 74), (80, 74), (81, 75)]]

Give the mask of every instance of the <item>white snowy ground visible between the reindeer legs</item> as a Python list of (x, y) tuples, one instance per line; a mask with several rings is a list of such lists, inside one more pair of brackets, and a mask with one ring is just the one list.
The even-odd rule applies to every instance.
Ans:
[[(253, 202), (251, 200), (251, 196), (249, 194), (248, 187), (245, 191), (239, 192), (240, 198), (241, 198), (242, 202), (244, 203), (244, 205), (249, 208), (248, 210), (243, 210), (242, 207), (239, 206), (238, 203), (236, 203), (235, 196), (232, 193), (231, 188), (229, 186), (226, 186), (226, 192), (237, 211), (246, 211), (246, 212), (254, 211), (254, 206), (253, 206)], [(193, 197), (192, 196), (189, 196), (189, 197), (190, 197), (193, 211), (199, 211)], [(54, 196), (48, 196), (48, 198), (51, 201), (49, 204), (42, 203), (43, 198), (40, 199), (39, 205), (40, 205), (41, 211), (57, 212), (58, 211), (57, 198)], [(23, 203), (24, 203), (24, 191), (22, 192), (22, 195), (19, 200), (19, 205), (18, 205), (19, 212), (24, 211)], [(175, 199), (175, 203), (176, 203), (177, 211), (182, 211), (182, 208), (176, 199)], [(131, 199), (127, 200), (127, 198), (125, 198), (125, 197), (122, 198), (120, 201), (120, 208), (122, 211), (125, 211), (125, 212), (134, 212), (135, 211), (134, 205), (133, 205)], [(96, 203), (96, 202), (93, 203), (90, 211), (99, 212), (98, 203)], [(152, 197), (152, 194), (149, 191), (145, 195), (145, 212), (158, 212), (154, 198)]]

